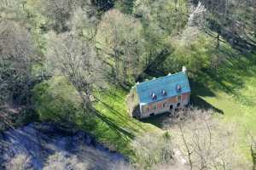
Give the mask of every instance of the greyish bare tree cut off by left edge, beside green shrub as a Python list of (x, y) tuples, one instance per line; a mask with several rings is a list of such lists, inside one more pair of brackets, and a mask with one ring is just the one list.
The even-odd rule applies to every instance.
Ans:
[(0, 20), (0, 98), (20, 103), (16, 95), (22, 95), (30, 83), (32, 54), (28, 32), (13, 21)]

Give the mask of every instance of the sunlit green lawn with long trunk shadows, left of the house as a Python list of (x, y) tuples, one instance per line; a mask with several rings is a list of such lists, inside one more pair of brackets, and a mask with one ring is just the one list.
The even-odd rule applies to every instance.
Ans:
[(113, 149), (132, 158), (132, 139), (146, 132), (162, 131), (159, 127), (140, 122), (129, 115), (125, 102), (128, 93), (122, 88), (110, 88), (97, 95), (100, 101), (96, 103), (95, 108), (102, 115), (102, 127), (96, 127), (93, 133), (100, 142), (108, 146), (113, 145)]

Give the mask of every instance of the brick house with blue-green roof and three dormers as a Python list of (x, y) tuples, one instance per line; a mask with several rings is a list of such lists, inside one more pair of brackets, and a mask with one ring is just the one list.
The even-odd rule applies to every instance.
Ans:
[(137, 111), (133, 105), (131, 115), (145, 118), (157, 114), (172, 112), (189, 104), (189, 79), (187, 70), (166, 77), (154, 78), (147, 82), (137, 82), (131, 94), (131, 101), (137, 100)]

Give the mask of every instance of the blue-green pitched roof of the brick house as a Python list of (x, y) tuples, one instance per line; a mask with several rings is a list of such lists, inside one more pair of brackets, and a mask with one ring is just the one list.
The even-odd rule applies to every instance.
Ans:
[[(181, 87), (180, 92), (177, 91), (177, 86)], [(189, 79), (183, 71), (148, 82), (137, 83), (136, 88), (141, 105), (190, 92)], [(162, 94), (163, 90), (167, 92), (166, 96)], [(157, 95), (156, 100), (152, 99), (153, 93)]]

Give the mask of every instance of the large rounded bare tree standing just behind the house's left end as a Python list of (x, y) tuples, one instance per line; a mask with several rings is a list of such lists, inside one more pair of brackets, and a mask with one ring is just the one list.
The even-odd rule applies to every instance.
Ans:
[(102, 17), (96, 45), (113, 69), (113, 82), (126, 84), (143, 71), (142, 29), (138, 20), (115, 9)]

